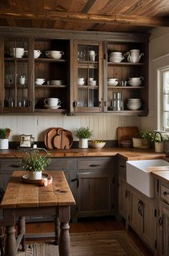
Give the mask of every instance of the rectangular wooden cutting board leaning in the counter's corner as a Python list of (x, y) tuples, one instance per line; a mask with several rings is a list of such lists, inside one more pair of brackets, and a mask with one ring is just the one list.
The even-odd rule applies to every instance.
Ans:
[(132, 137), (137, 137), (138, 135), (138, 127), (117, 127), (117, 140), (119, 147), (121, 147), (121, 142), (123, 140), (132, 140)]

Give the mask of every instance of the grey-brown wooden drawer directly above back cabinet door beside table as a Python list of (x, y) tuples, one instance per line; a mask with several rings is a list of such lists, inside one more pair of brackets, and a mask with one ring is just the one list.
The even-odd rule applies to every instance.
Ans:
[(78, 160), (77, 168), (78, 170), (111, 169), (114, 168), (114, 161), (111, 159)]

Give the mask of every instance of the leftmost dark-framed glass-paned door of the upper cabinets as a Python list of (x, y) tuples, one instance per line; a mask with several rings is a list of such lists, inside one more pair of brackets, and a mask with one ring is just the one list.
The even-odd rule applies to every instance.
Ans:
[(28, 111), (28, 41), (4, 40), (4, 112)]

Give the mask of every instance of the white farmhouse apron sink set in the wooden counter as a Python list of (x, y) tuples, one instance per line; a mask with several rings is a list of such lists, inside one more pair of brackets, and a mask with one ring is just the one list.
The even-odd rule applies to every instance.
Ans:
[(167, 161), (162, 159), (127, 161), (127, 183), (138, 189), (147, 197), (154, 197), (154, 179), (148, 167), (169, 166)]

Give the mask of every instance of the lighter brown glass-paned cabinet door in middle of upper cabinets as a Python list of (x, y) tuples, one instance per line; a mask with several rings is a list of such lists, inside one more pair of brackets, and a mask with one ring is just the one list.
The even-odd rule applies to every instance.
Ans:
[(101, 112), (101, 43), (76, 41), (74, 56), (75, 112)]

